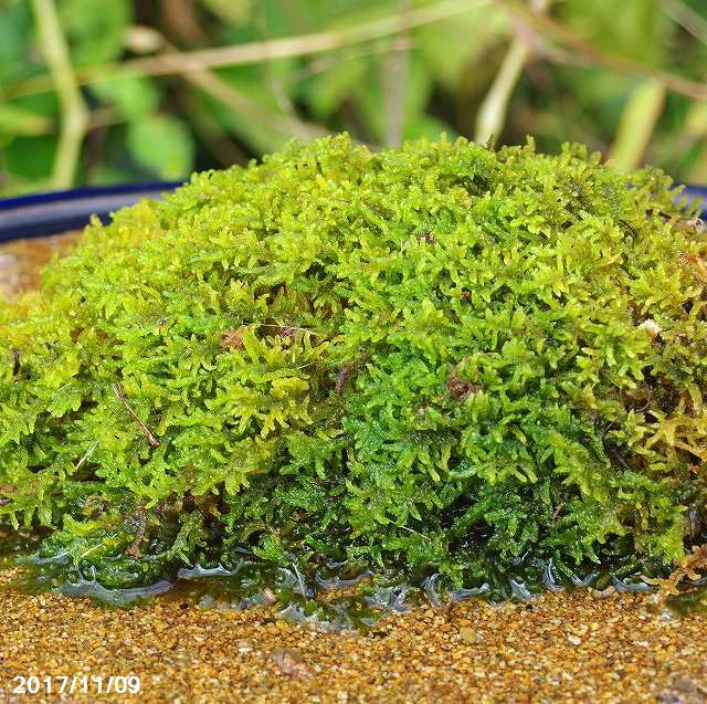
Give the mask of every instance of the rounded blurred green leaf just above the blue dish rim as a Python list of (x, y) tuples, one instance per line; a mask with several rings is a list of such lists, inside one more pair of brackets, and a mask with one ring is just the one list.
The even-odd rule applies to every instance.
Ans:
[(160, 178), (183, 178), (193, 167), (189, 129), (171, 115), (151, 115), (130, 123), (127, 143), (133, 158)]

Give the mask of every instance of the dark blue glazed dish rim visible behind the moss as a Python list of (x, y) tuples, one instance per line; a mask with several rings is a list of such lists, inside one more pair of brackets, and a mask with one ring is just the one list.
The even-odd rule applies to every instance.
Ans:
[[(140, 198), (160, 198), (180, 185), (172, 181), (105, 186), (0, 200), (0, 242), (77, 230), (92, 214), (106, 222), (118, 208)], [(703, 200), (707, 217), (707, 187), (687, 186), (685, 193)]]

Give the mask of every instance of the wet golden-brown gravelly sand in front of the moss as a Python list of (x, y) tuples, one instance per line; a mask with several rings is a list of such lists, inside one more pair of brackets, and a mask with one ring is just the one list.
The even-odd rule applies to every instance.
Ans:
[[(645, 596), (450, 603), (367, 634), (318, 632), (276, 610), (112, 610), (0, 592), (0, 703), (707, 702), (707, 617), (656, 612)], [(138, 675), (141, 691), (18, 696), (17, 675)]]

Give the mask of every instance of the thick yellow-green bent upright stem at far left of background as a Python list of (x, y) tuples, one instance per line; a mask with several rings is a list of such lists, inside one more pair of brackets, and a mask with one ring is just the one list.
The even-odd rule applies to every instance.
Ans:
[(70, 188), (81, 155), (81, 145), (88, 127), (88, 109), (84, 103), (68, 57), (66, 39), (62, 31), (53, 0), (32, 0), (32, 9), (42, 52), (52, 76), (61, 105), (61, 133), (52, 187)]

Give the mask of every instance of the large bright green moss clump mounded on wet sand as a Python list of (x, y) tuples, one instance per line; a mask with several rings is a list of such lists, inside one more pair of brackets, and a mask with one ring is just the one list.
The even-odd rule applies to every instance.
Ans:
[(477, 584), (699, 530), (707, 243), (581, 147), (336, 137), (92, 224), (0, 322), (0, 512), (110, 585), (346, 558)]

